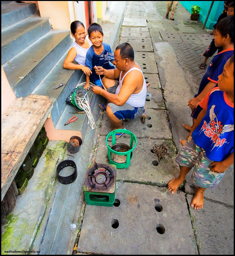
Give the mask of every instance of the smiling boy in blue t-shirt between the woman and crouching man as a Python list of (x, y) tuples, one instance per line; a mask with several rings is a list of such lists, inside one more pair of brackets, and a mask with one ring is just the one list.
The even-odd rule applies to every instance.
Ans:
[[(85, 66), (88, 67), (92, 73), (90, 76), (86, 76), (86, 85), (84, 89), (89, 89), (90, 79), (94, 84), (103, 87), (100, 81), (103, 76), (96, 74), (94, 67), (100, 66), (104, 69), (115, 69), (115, 66), (111, 63), (114, 61), (114, 54), (111, 47), (108, 44), (103, 43), (104, 33), (102, 27), (97, 23), (92, 23), (88, 28), (88, 36), (93, 46), (87, 51)], [(111, 62), (110, 62), (111, 61)]]

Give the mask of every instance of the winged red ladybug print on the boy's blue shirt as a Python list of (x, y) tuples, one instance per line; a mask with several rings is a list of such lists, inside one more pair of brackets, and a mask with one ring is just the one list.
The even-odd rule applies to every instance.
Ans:
[(208, 138), (210, 138), (210, 140), (212, 141), (212, 145), (214, 144), (214, 147), (212, 148), (212, 150), (215, 147), (220, 148), (226, 141), (226, 138), (222, 138), (223, 134), (226, 132), (231, 132), (234, 129), (233, 124), (224, 125), (222, 124), (221, 121), (217, 119), (217, 115), (214, 112), (215, 106), (216, 105), (212, 105), (210, 108), (210, 112), (209, 112), (210, 123), (207, 123), (206, 121), (204, 121), (203, 126), (201, 128), (202, 131), (200, 132), (200, 134), (204, 132), (204, 134)]

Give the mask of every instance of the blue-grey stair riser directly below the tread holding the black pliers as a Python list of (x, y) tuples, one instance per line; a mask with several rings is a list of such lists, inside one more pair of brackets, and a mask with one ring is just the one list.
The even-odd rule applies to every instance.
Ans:
[[(65, 88), (62, 90), (57, 100), (53, 103), (53, 109), (51, 111), (51, 118), (54, 126), (58, 123), (67, 103), (65, 102), (70, 92), (77, 86), (77, 84), (81, 81), (84, 81), (83, 71), (76, 70), (68, 82), (66, 83)], [(83, 79), (82, 79), (83, 78)]]

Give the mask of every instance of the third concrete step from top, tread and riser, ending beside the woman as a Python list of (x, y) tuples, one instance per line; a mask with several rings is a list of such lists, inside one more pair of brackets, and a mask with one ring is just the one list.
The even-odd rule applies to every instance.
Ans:
[(16, 97), (27, 97), (72, 44), (70, 31), (51, 30), (3, 66)]

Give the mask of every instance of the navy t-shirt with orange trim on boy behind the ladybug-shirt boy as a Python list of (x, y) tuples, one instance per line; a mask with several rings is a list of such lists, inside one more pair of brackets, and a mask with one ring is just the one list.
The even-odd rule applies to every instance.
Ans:
[(197, 97), (207, 86), (207, 84), (212, 81), (218, 83), (218, 76), (223, 73), (224, 65), (229, 58), (233, 55), (233, 48), (219, 52), (208, 65), (206, 72), (200, 83), (198, 93), (194, 96)]

